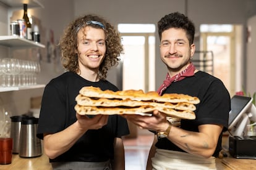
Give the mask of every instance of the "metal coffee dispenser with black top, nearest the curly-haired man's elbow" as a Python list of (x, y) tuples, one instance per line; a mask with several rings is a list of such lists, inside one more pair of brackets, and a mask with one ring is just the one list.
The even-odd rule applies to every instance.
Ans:
[(20, 127), (19, 156), (32, 158), (42, 155), (41, 140), (36, 137), (38, 118), (22, 118)]

